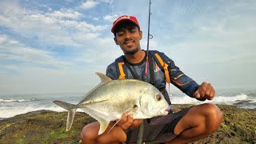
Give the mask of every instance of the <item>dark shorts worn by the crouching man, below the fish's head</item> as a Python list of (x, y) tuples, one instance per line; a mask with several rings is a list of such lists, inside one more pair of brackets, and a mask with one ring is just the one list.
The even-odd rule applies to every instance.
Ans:
[[(176, 138), (177, 135), (174, 134), (174, 128), (190, 108), (185, 108), (178, 113), (144, 120), (143, 142), (167, 142)], [(126, 130), (126, 136), (126, 144), (136, 143), (138, 128), (130, 128)]]

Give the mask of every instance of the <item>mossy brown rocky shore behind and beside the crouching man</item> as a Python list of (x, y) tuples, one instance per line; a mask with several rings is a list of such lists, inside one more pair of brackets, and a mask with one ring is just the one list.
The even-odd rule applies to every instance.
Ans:
[[(175, 105), (183, 109), (190, 105)], [(224, 114), (221, 127), (207, 138), (193, 143), (256, 143), (256, 110), (218, 105)], [(178, 110), (177, 109), (177, 110)], [(81, 143), (80, 132), (94, 122), (78, 112), (70, 131), (66, 132), (66, 112), (50, 110), (20, 114), (0, 120), (0, 143)]]

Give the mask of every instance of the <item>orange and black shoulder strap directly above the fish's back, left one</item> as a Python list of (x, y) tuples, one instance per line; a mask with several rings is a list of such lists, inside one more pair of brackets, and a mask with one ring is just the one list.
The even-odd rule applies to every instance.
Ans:
[(126, 76), (126, 65), (125, 64), (125, 61), (124, 61), (124, 58), (123, 58), (123, 55), (120, 56), (119, 58), (115, 59), (115, 67), (117, 69), (117, 73), (118, 73), (118, 79), (125, 79), (127, 76)]

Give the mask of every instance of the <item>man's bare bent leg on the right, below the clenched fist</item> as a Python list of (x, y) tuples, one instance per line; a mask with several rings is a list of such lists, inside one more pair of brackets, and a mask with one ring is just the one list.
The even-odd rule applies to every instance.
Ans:
[(197, 141), (218, 130), (222, 119), (222, 112), (214, 104), (193, 106), (175, 126), (174, 134), (178, 137), (166, 143)]

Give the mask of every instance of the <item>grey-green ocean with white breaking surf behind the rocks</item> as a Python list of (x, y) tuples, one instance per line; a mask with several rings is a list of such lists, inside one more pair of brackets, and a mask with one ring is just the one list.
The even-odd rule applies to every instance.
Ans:
[[(0, 94), (0, 119), (14, 117), (36, 110), (65, 111), (53, 103), (61, 100), (77, 104), (85, 93), (54, 93), (54, 94)], [(256, 90), (216, 90), (214, 100), (199, 102), (180, 91), (173, 91), (170, 95), (173, 104), (214, 104), (234, 105), (246, 109), (256, 109)], [(78, 110), (82, 111), (82, 110)]]

